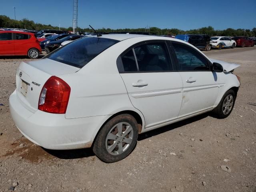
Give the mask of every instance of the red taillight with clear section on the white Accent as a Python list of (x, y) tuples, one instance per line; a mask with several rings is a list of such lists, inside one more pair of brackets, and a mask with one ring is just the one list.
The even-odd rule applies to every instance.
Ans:
[(41, 90), (38, 109), (48, 113), (66, 113), (70, 90), (64, 80), (51, 76)]

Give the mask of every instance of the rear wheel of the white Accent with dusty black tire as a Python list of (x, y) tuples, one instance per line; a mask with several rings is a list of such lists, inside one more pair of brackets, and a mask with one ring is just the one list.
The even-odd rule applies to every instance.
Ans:
[[(130, 131), (126, 136), (123, 136), (124, 138), (122, 138), (122, 134), (119, 134), (119, 132), (116, 132), (116, 131), (118, 131), (118, 123), (121, 123), (121, 125), (122, 125), (121, 127), (122, 127), (123, 135), (125, 134), (127, 127), (131, 126), (131, 128), (132, 128), (132, 131)], [(123, 123), (130, 124), (130, 126), (123, 125)], [(130, 139), (131, 132), (132, 132), (132, 139)], [(115, 139), (115, 140), (114, 139), (108, 140), (107, 137), (109, 134), (114, 135), (114, 137), (116, 137), (116, 138), (118, 138), (118, 136), (119, 136), (119, 138)], [(123, 142), (123, 140), (126, 139), (125, 137), (129, 138), (131, 140), (130, 144)], [(137, 140), (138, 140), (138, 123), (137, 123), (136, 119), (130, 114), (121, 114), (121, 115), (115, 116), (114, 118), (110, 119), (102, 127), (102, 129), (100, 130), (100, 132), (98, 133), (98, 135), (94, 141), (92, 150), (93, 150), (94, 154), (96, 154), (96, 156), (100, 160), (102, 160), (106, 163), (113, 163), (113, 162), (117, 162), (117, 161), (120, 161), (120, 160), (126, 158), (132, 152), (132, 150), (134, 150)], [(108, 152), (107, 147), (108, 146), (110, 147), (112, 145), (114, 146), (115, 143), (116, 143), (116, 145), (114, 147), (114, 150), (111, 152)], [(125, 149), (125, 147), (128, 146), (120, 154), (118, 154), (118, 150), (119, 150), (118, 143), (121, 143), (122, 149)]]

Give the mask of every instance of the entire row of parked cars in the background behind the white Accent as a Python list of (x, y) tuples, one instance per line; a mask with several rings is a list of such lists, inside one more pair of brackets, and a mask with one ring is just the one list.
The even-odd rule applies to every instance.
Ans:
[[(83, 35), (68, 34), (68, 32), (62, 30), (41, 30), (37, 33), (32, 32), (35, 31), (23, 32), (20, 30), (1, 30), (0, 55), (28, 55), (30, 58), (38, 58), (42, 50), (45, 50), (46, 53), (50, 53), (73, 40), (97, 35), (96, 33), (85, 33)], [(122, 33), (123, 32), (113, 32), (108, 34)], [(174, 38), (174, 36), (166, 37)], [(255, 38), (253, 39), (243, 36), (236, 36), (230, 39), (224, 36), (210, 37), (208, 35), (198, 34), (177, 35), (175, 38), (184, 40), (195, 47), (205, 49), (206, 51), (210, 51), (212, 48), (222, 49), (227, 47), (234, 48), (236, 46), (254, 46), (256, 40)], [(18, 48), (18, 46), (21, 47)]]

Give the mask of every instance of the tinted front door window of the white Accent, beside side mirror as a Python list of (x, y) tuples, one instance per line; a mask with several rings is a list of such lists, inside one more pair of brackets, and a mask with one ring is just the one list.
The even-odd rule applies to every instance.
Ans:
[(179, 70), (209, 70), (207, 60), (196, 50), (186, 45), (172, 43)]

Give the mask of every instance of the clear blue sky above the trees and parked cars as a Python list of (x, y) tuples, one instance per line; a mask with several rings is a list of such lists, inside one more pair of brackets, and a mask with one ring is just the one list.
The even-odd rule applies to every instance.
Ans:
[[(0, 0), (0, 15), (72, 26), (73, 0)], [(256, 0), (78, 0), (78, 26), (87, 28), (215, 29), (256, 27)]]

